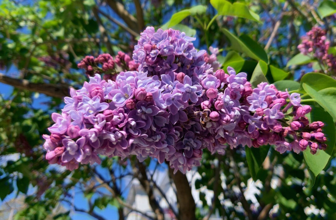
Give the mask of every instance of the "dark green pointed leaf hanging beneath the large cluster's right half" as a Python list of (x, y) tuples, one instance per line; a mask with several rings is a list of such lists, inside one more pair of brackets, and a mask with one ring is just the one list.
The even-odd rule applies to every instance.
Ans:
[(257, 180), (257, 174), (267, 157), (268, 151), (269, 146), (260, 146), (259, 148), (245, 146), (247, 165), (254, 181)]

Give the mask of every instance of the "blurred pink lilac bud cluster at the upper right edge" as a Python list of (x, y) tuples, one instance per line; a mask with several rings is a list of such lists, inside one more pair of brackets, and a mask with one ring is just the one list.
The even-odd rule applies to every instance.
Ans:
[(336, 74), (336, 56), (328, 53), (330, 42), (327, 40), (326, 31), (320, 27), (313, 27), (302, 37), (298, 49), (304, 55), (312, 55), (318, 59), (318, 62), (326, 67), (325, 73), (329, 75)]

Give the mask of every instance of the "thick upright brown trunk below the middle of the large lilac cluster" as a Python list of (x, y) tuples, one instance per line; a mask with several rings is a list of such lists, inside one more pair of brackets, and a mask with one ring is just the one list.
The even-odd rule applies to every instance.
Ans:
[[(169, 165), (168, 165), (169, 166)], [(169, 167), (169, 175), (173, 179), (176, 187), (176, 196), (178, 203), (178, 217), (179, 220), (194, 220), (196, 219), (195, 211), (196, 205), (193, 195), (191, 194), (191, 187), (187, 177), (180, 171), (174, 174), (174, 170)]]

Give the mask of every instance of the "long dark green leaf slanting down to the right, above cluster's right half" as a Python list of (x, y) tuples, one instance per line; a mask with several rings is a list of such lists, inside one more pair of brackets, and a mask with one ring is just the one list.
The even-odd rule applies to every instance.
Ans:
[(264, 49), (247, 35), (242, 35), (238, 38), (225, 28), (223, 28), (223, 33), (229, 39), (232, 49), (244, 53), (252, 59), (268, 62), (268, 57)]

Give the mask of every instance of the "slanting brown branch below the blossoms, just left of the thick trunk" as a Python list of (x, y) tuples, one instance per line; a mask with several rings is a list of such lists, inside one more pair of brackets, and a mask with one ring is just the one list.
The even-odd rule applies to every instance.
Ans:
[(150, 184), (150, 181), (148, 180), (147, 173), (146, 173), (146, 167), (142, 163), (138, 163), (139, 167), (139, 175), (137, 176), (138, 180), (140, 181), (140, 184), (144, 188), (145, 192), (148, 195), (149, 204), (153, 209), (153, 212), (155, 213), (156, 219), (163, 220), (164, 214), (163, 211), (159, 205), (159, 203), (156, 201), (153, 188)]

